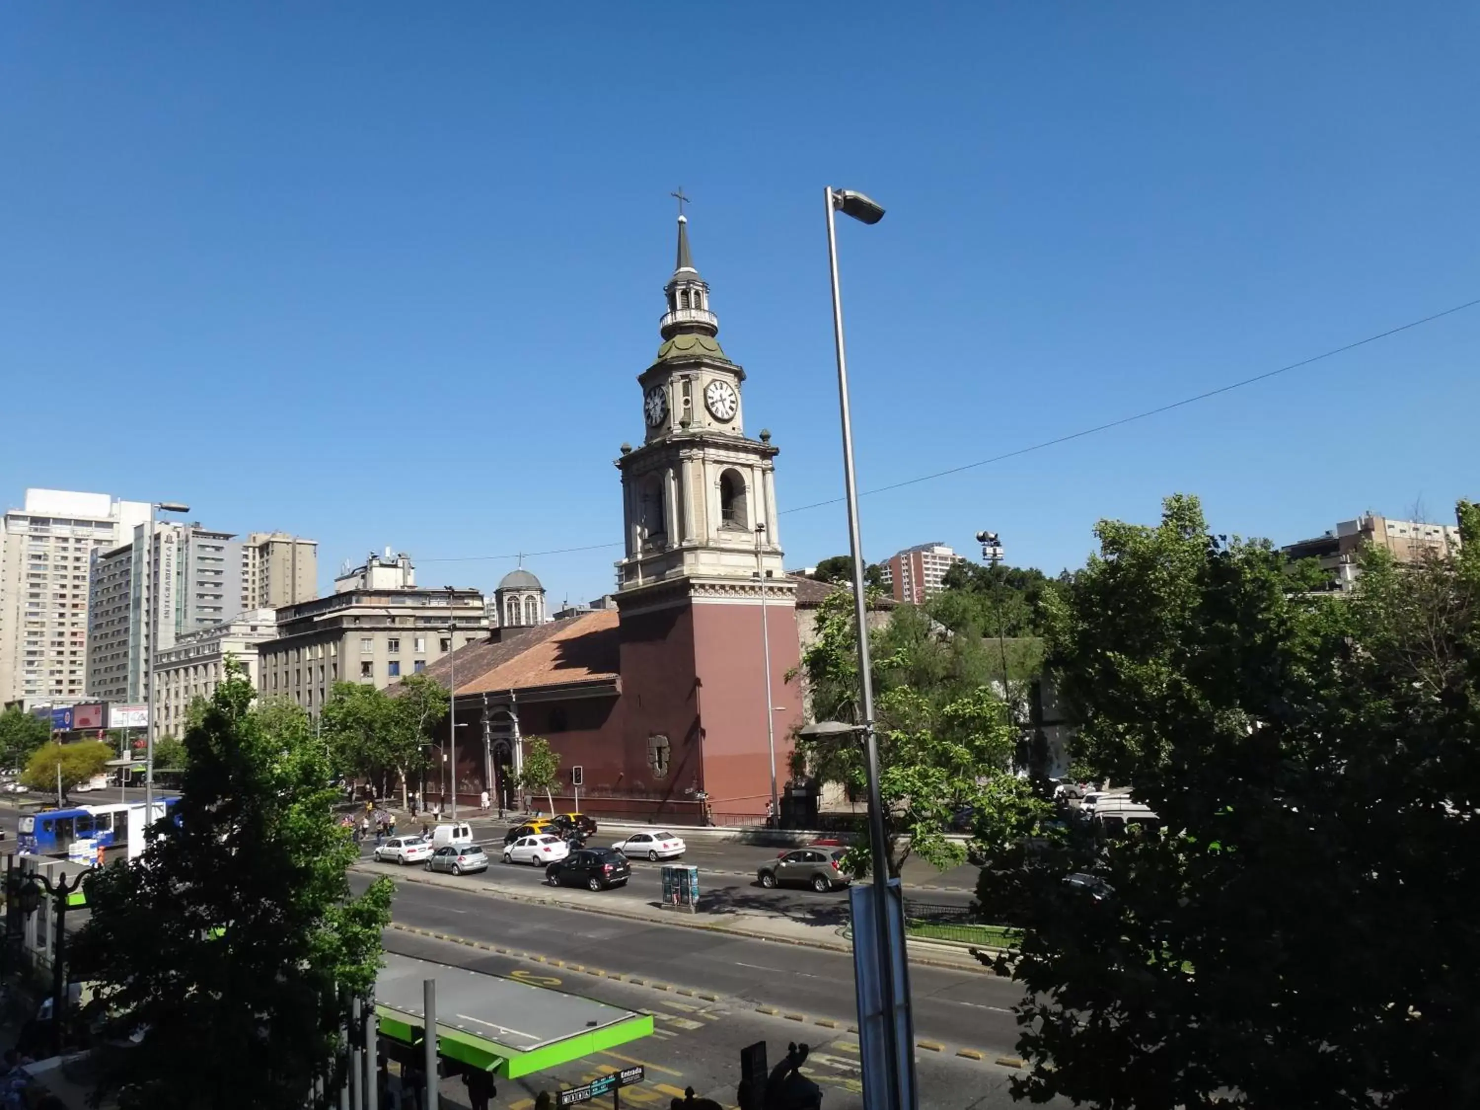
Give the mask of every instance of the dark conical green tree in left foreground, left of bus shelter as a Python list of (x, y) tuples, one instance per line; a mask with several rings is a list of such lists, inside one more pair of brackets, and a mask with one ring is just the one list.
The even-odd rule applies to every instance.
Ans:
[(185, 736), (178, 820), (154, 827), (141, 860), (89, 878), (74, 974), (96, 987), (86, 1015), (102, 1039), (139, 1035), (95, 1057), (96, 1094), (124, 1110), (311, 1104), (337, 992), (374, 983), (391, 884), (349, 897), (357, 850), (334, 823), (323, 747), (305, 718), (252, 699), (228, 667)]

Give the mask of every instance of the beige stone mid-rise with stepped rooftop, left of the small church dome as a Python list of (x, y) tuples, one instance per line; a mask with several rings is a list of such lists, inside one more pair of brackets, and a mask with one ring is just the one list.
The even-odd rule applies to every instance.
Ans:
[(422, 589), (406, 554), (370, 555), (334, 592), (277, 611), (277, 638), (258, 645), (258, 694), (318, 715), (334, 682), (388, 687), (453, 647), (485, 639), (477, 589)]

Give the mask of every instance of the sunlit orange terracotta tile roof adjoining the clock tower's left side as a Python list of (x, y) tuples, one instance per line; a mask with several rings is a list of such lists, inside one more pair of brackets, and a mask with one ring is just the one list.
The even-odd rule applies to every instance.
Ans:
[[(469, 644), (456, 651), (457, 694), (592, 682), (617, 676), (617, 611), (596, 610), (511, 635), (502, 644)], [(443, 685), (447, 657), (426, 667)]]

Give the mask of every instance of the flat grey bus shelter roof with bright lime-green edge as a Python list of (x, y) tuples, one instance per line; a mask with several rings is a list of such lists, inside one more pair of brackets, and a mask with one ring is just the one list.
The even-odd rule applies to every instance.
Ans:
[(374, 986), (382, 1035), (414, 1043), (429, 978), (437, 980), (440, 1054), (508, 1079), (653, 1035), (651, 1014), (389, 952)]

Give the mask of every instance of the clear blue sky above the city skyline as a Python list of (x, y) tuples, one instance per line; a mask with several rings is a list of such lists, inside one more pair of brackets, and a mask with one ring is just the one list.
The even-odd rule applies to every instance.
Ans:
[[(1464, 4), (65, 4), (0, 10), (0, 500), (181, 499), (429, 585), (616, 543), (682, 185), (783, 509), (841, 493), (821, 188), (864, 488), (1480, 297)], [(558, 12), (554, 18), (551, 13)], [(1079, 565), (1172, 491), (1288, 542), (1480, 496), (1480, 308), (863, 500)], [(787, 512), (787, 564), (847, 549)], [(552, 601), (616, 548), (540, 555)]]

